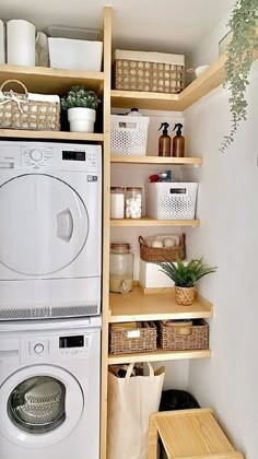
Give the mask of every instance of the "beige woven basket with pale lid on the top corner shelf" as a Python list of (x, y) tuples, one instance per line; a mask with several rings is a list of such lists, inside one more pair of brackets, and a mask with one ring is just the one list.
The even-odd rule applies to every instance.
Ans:
[(184, 90), (185, 56), (124, 51), (114, 56), (115, 90), (178, 94)]

